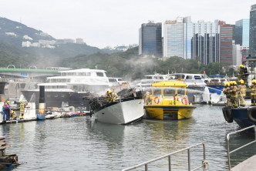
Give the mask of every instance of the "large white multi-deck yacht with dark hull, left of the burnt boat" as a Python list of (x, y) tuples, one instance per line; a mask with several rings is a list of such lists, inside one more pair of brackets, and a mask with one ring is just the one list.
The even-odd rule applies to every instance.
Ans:
[[(69, 106), (86, 107), (89, 110), (89, 97), (102, 96), (109, 89), (106, 71), (101, 69), (74, 69), (61, 71), (60, 76), (48, 77), (45, 86), (46, 107), (61, 107), (62, 102)], [(25, 99), (39, 100), (39, 89), (22, 91)]]

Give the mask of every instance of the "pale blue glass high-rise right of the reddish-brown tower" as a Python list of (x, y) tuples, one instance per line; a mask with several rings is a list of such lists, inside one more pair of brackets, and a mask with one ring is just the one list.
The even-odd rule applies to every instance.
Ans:
[(235, 44), (249, 46), (250, 19), (241, 19), (235, 22)]

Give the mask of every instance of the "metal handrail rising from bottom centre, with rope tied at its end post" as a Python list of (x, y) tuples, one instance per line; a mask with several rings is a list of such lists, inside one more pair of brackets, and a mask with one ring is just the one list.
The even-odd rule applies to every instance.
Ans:
[(169, 153), (169, 154), (166, 154), (164, 156), (157, 157), (156, 159), (151, 159), (151, 160), (149, 160), (147, 162), (144, 162), (144, 163), (140, 163), (140, 164), (138, 164), (136, 166), (131, 166), (129, 168), (122, 169), (122, 171), (128, 171), (128, 170), (136, 169), (136, 168), (139, 168), (141, 166), (144, 166), (145, 167), (145, 171), (148, 171), (148, 165), (150, 163), (156, 162), (156, 161), (158, 161), (160, 159), (164, 159), (164, 158), (168, 158), (168, 166), (169, 166), (169, 171), (170, 171), (171, 170), (171, 156), (173, 156), (174, 154), (177, 154), (177, 153), (184, 152), (184, 151), (187, 151), (187, 165), (188, 165), (188, 170), (190, 171), (191, 170), (191, 166), (190, 166), (190, 164), (191, 164), (190, 163), (190, 149), (192, 149), (194, 147), (197, 147), (197, 146), (201, 146), (201, 145), (203, 146), (203, 149), (204, 149), (204, 160), (203, 160), (203, 162), (202, 162), (202, 164), (200, 166), (197, 166), (197, 168), (192, 169), (192, 171), (200, 169), (200, 168), (203, 168), (203, 170), (207, 170), (209, 165), (208, 165), (208, 162), (206, 160), (205, 145), (204, 145), (203, 142), (200, 142), (200, 143), (198, 143), (198, 144), (196, 144), (194, 146), (189, 146), (189, 147), (187, 147), (185, 149), (180, 149), (180, 150), (178, 150), (176, 152)]

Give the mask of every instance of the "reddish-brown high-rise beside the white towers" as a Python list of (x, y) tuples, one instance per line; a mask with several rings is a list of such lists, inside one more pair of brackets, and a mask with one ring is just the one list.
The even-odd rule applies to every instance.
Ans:
[(234, 25), (227, 25), (219, 21), (220, 32), (220, 62), (225, 65), (233, 65), (232, 40), (234, 39)]

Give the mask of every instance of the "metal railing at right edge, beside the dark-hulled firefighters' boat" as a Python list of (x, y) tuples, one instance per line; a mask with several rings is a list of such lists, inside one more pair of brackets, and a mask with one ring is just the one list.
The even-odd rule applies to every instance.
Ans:
[(230, 149), (229, 149), (229, 139), (230, 139), (231, 135), (236, 134), (236, 133), (238, 133), (238, 132), (243, 132), (243, 131), (245, 131), (245, 130), (247, 130), (247, 129), (252, 129), (252, 128), (254, 129), (254, 132), (256, 132), (256, 126), (249, 126), (249, 127), (247, 127), (247, 128), (244, 128), (244, 129), (241, 129), (241, 130), (238, 130), (238, 131), (231, 132), (231, 133), (228, 133), (228, 134), (227, 134), (227, 159), (228, 159), (228, 169), (229, 169), (229, 170), (231, 170), (231, 153), (234, 153), (234, 152), (236, 152), (238, 149), (242, 149), (242, 148), (244, 148), (245, 146), (249, 146), (249, 145), (251, 145), (252, 143), (256, 142), (256, 133), (255, 133), (255, 140), (254, 140), (254, 141), (248, 142), (248, 143), (245, 144), (244, 146), (238, 147), (237, 149), (234, 149), (234, 150), (230, 151)]

